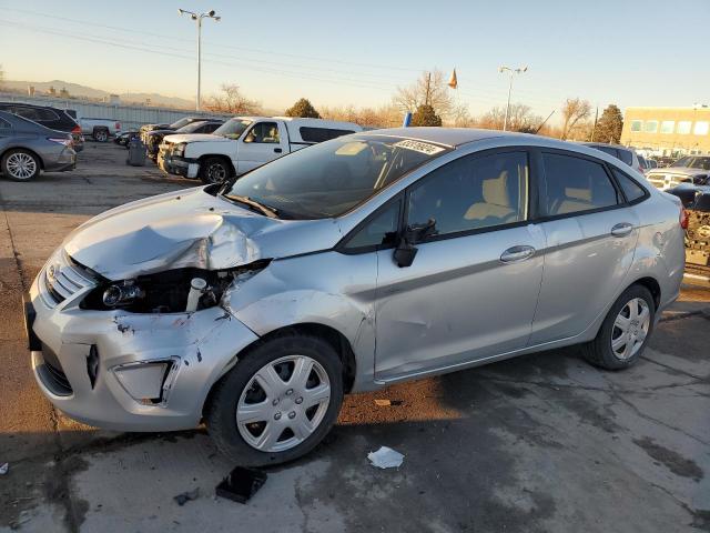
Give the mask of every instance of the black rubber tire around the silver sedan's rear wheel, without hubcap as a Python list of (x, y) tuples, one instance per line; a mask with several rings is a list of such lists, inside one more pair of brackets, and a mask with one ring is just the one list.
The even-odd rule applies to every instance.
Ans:
[[(615, 330), (615, 322), (620, 311), (626, 308), (627, 303), (631, 302), (635, 299), (641, 299), (646, 302), (649, 310), (649, 325), (648, 332), (646, 333), (646, 339), (640, 348), (632, 353), (627, 359), (619, 358), (613, 350), (611, 349), (612, 335), (615, 333), (618, 335), (618, 330)], [(611, 309), (607, 313), (606, 319), (601, 323), (601, 328), (599, 328), (599, 332), (597, 333), (597, 338), (582, 345), (582, 356), (595, 366), (599, 366), (605, 370), (622, 370), (628, 369), (632, 364), (635, 364), (643, 350), (646, 350), (646, 345), (648, 344), (651, 334), (653, 333), (653, 323), (656, 318), (656, 303), (653, 301), (653, 296), (650, 291), (643, 285), (631, 285), (613, 302)]]

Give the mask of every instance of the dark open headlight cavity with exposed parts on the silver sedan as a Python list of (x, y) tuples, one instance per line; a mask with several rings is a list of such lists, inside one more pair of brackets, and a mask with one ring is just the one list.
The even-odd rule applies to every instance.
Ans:
[(230, 285), (244, 282), (267, 264), (268, 260), (219, 271), (175, 269), (106, 282), (91, 291), (81, 302), (81, 308), (98, 311), (121, 309), (133, 313), (199, 311), (216, 305)]

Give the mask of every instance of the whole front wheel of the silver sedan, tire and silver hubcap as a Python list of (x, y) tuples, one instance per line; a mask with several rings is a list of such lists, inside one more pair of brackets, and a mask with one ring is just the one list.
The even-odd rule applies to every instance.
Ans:
[(257, 344), (215, 385), (205, 421), (217, 447), (244, 466), (313, 450), (337, 419), (343, 368), (329, 343), (297, 333)]

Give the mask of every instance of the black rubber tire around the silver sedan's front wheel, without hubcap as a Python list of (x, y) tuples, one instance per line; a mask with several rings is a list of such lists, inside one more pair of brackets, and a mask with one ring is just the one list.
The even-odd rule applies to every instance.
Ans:
[[(240, 433), (236, 409), (252, 378), (267, 363), (290, 355), (311, 358), (320, 363), (329, 381), (329, 403), (313, 433), (301, 443), (285, 451), (261, 451), (248, 444)], [(281, 464), (312, 451), (331, 431), (342, 403), (343, 366), (333, 346), (317, 336), (285, 333), (247, 350), (236, 365), (215, 384), (205, 409), (205, 423), (217, 449), (234, 463), (243, 466)], [(263, 431), (265, 430), (264, 428)]]

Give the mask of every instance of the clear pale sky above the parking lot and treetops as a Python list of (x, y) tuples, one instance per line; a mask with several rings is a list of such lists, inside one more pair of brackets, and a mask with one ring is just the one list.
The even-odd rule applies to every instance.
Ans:
[(511, 100), (540, 115), (576, 97), (710, 103), (710, 0), (0, 0), (0, 64), (8, 80), (194, 99), (196, 29), (178, 8), (222, 17), (203, 22), (203, 98), (235, 83), (267, 109), (379, 105), (456, 68), (454, 98), (478, 114), (505, 105), (505, 64), (528, 67)]

